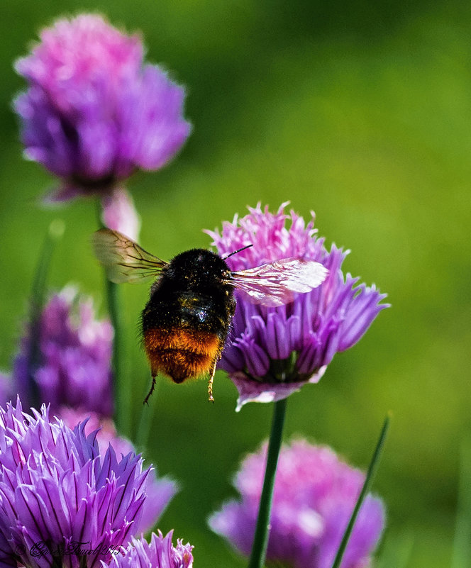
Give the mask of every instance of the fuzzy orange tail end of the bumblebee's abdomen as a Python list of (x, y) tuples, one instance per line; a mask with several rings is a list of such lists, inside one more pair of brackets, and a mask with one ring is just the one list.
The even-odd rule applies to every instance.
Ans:
[(191, 328), (151, 328), (144, 332), (152, 376), (163, 372), (176, 383), (211, 372), (221, 354), (221, 343), (216, 334)]

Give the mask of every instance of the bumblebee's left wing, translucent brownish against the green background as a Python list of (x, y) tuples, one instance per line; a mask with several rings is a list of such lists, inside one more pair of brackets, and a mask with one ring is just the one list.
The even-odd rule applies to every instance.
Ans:
[(150, 255), (133, 240), (116, 230), (100, 229), (93, 235), (96, 258), (111, 282), (136, 284), (155, 279), (167, 262)]

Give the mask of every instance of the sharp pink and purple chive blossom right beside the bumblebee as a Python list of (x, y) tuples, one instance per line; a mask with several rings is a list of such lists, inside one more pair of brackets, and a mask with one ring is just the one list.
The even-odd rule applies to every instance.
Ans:
[(315, 260), (328, 269), (321, 286), (279, 308), (251, 304), (236, 291), (237, 308), (219, 367), (238, 388), (238, 409), (250, 401), (284, 399), (306, 382), (318, 382), (333, 355), (355, 345), (388, 306), (379, 304), (386, 294), (374, 284), (367, 287), (358, 284), (358, 277), (343, 275), (348, 251), (336, 245), (326, 250), (324, 239), (316, 237), (314, 213), (306, 225), (294, 211), (285, 213), (286, 205), (270, 213), (258, 204), (245, 217), (223, 223), (221, 233), (206, 231), (222, 256), (253, 245), (228, 259), (234, 271), (287, 257)]

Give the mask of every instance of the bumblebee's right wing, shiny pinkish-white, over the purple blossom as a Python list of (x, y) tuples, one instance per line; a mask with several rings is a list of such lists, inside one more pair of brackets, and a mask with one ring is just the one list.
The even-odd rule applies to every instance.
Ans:
[(231, 272), (233, 285), (248, 301), (263, 306), (283, 306), (322, 284), (328, 269), (314, 260), (284, 258), (255, 268)]

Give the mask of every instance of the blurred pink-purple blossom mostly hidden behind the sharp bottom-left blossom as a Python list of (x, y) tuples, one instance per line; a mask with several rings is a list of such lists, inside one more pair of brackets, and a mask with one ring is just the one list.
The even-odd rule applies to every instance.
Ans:
[[(118, 436), (111, 418), (100, 418), (96, 413), (78, 412), (72, 408), (60, 408), (58, 414), (69, 428), (74, 428), (78, 423), (85, 421), (84, 433), (86, 435), (96, 433), (96, 442), (101, 457), (104, 458), (109, 445), (113, 447), (117, 456), (128, 455), (129, 452), (135, 453), (133, 444), (126, 438)], [(150, 472), (145, 488), (147, 497), (143, 504), (140, 522), (136, 525), (136, 530), (133, 531), (134, 534), (147, 533), (155, 527), (157, 520), (165, 511), (177, 490), (178, 486), (175, 481), (166, 477), (157, 477), (157, 469), (155, 468), (153, 472)]]

